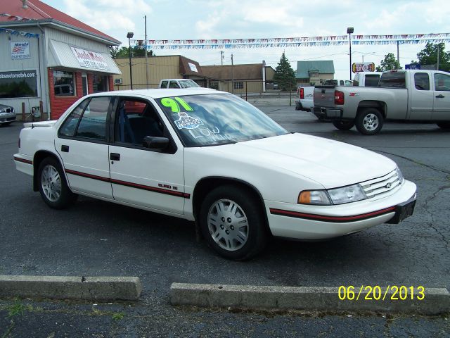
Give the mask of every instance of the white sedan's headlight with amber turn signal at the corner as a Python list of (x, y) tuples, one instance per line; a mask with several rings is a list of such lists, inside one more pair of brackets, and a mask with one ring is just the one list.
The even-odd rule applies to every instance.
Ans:
[(316, 206), (330, 206), (345, 204), (367, 199), (359, 184), (329, 190), (306, 190), (298, 195), (298, 204), (314, 204)]

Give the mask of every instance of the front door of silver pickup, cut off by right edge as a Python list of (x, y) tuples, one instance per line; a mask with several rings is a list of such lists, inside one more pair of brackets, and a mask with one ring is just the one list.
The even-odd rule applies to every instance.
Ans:
[(450, 120), (450, 75), (437, 73), (434, 76), (435, 91), (432, 120)]

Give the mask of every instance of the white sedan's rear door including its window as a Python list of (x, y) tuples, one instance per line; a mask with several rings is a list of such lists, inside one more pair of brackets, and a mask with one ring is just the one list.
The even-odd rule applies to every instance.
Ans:
[(63, 159), (74, 192), (113, 199), (108, 161), (108, 129), (113, 99), (98, 96), (82, 101), (58, 130), (55, 147)]

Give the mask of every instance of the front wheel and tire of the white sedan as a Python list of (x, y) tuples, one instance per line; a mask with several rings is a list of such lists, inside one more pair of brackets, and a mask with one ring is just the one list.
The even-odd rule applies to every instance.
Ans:
[(205, 196), (200, 229), (220, 256), (245, 261), (262, 251), (269, 238), (263, 212), (247, 189), (223, 185)]

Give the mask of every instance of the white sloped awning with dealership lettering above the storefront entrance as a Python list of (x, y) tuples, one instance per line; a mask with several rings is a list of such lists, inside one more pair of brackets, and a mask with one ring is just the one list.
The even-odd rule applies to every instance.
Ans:
[(82, 49), (55, 40), (50, 40), (49, 43), (47, 66), (108, 74), (122, 74), (108, 53)]

